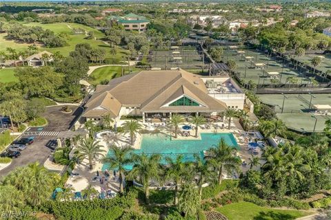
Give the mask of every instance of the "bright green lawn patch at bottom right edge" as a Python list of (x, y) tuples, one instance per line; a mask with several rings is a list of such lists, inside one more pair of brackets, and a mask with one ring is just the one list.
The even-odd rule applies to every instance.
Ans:
[(217, 208), (217, 211), (224, 214), (229, 220), (287, 220), (297, 219), (311, 214), (310, 212), (302, 212), (299, 210), (266, 208), (246, 201)]

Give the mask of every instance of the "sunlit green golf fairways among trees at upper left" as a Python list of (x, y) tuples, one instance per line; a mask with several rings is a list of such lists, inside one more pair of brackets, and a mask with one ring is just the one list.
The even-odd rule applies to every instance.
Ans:
[[(65, 47), (57, 47), (57, 48), (47, 48), (43, 47), (42, 45), (39, 45), (39, 51), (47, 50), (49, 52), (60, 52), (63, 56), (68, 56), (69, 53), (74, 50), (74, 47), (78, 43), (88, 43), (90, 44), (93, 48), (102, 48), (106, 50), (107, 52), (107, 57), (111, 58), (118, 58), (122, 60), (126, 60), (126, 58), (123, 58), (123, 56), (126, 56), (127, 50), (124, 50), (122, 47), (117, 47), (117, 54), (115, 56), (110, 54), (110, 45), (104, 43), (102, 39), (105, 37), (105, 34), (103, 32), (100, 32), (99, 30), (96, 30), (94, 28), (90, 28), (86, 25), (80, 25), (77, 23), (37, 23), (37, 22), (32, 22), (32, 23), (22, 23), (23, 25), (26, 26), (40, 26), (41, 28), (44, 29), (49, 29), (52, 30), (54, 33), (60, 34), (60, 33), (65, 33), (68, 35), (68, 39), (66, 40), (68, 45)], [(86, 30), (86, 32), (93, 31), (94, 32), (94, 37), (96, 39), (86, 39), (85, 34), (73, 34), (72, 29), (70, 28), (81, 28), (83, 30)], [(6, 47), (12, 47), (15, 50), (25, 50), (28, 48), (28, 43), (19, 43), (16, 41), (8, 41), (5, 39), (5, 36), (7, 34), (0, 34), (0, 51), (5, 51)]]

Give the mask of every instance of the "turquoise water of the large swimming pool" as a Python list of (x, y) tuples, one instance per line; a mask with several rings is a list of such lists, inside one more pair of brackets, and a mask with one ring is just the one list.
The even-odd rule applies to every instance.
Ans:
[[(237, 141), (232, 133), (201, 133), (201, 140), (172, 140), (170, 136), (158, 133), (156, 135), (143, 134), (141, 148), (134, 150), (134, 153), (160, 153), (163, 157), (161, 162), (165, 163), (165, 157), (176, 158), (177, 155), (183, 154), (185, 162), (194, 160), (194, 153), (203, 155), (203, 151), (217, 146), (219, 140), (223, 138), (227, 144), (239, 149)], [(108, 152), (111, 155), (111, 152)], [(102, 170), (108, 168), (103, 164)], [(128, 170), (132, 166), (127, 166)]]

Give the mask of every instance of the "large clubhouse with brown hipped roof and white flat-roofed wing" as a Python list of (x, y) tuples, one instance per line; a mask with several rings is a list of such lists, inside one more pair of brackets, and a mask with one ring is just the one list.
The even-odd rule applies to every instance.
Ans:
[(97, 85), (82, 117), (101, 121), (110, 115), (140, 115), (143, 122), (172, 114), (217, 115), (228, 108), (243, 109), (245, 94), (231, 78), (201, 77), (179, 70), (142, 71)]

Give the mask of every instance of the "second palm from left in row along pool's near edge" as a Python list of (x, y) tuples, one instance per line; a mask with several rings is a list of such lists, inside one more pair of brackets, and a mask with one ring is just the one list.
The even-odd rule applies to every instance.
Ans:
[(145, 191), (146, 203), (150, 203), (149, 182), (152, 178), (159, 179), (161, 170), (159, 162), (161, 160), (161, 155), (153, 154), (148, 156), (145, 153), (142, 153), (141, 155), (132, 155), (132, 159), (134, 160), (135, 165), (128, 174), (128, 178), (139, 178)]

